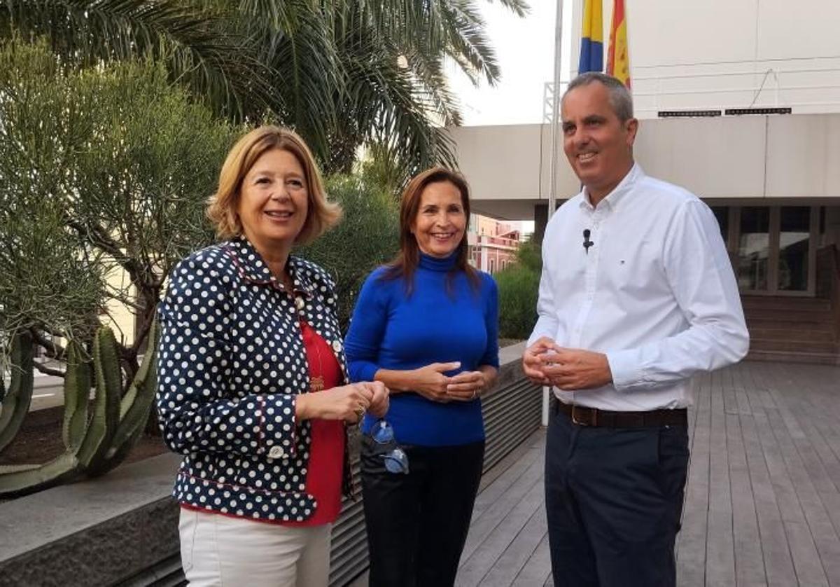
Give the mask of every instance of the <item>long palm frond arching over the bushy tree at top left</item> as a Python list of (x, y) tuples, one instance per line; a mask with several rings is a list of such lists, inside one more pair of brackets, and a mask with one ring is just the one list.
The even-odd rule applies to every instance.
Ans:
[(276, 101), (266, 69), (218, 13), (180, 0), (7, 0), (0, 20), (68, 63), (148, 57), (223, 114)]

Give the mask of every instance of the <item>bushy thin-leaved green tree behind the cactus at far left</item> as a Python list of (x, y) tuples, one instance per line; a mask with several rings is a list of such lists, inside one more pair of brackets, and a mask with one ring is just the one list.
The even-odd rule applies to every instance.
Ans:
[(4, 338), (27, 332), (61, 359), (56, 340), (90, 341), (116, 301), (137, 316), (119, 345), (127, 385), (166, 275), (213, 239), (205, 203), (241, 131), (151, 61), (81, 68), (45, 42), (0, 45)]

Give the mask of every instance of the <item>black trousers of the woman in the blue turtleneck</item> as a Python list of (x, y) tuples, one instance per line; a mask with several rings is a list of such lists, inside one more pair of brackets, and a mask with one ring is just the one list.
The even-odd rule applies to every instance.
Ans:
[(370, 587), (449, 587), (470, 529), (484, 442), (401, 447), (409, 473), (389, 473), (376, 443), (362, 438)]

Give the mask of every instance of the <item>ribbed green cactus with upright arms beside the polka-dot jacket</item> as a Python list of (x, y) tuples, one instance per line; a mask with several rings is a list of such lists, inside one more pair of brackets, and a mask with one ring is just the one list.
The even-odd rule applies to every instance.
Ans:
[[(65, 452), (43, 465), (0, 467), (0, 497), (33, 493), (81, 475), (95, 477), (123, 462), (142, 435), (155, 399), (157, 331), (155, 320), (149, 331), (149, 345), (143, 364), (122, 399), (122, 371), (117, 341), (111, 329), (102, 326), (97, 330), (92, 366), (85, 360), (79, 346), (75, 343), (69, 345), (62, 426)], [(32, 394), (31, 351), (29, 365), (28, 386), (22, 377), (18, 388), (15, 388), (13, 380), (12, 388), (20, 397), (29, 398)], [(92, 413), (88, 415), (91, 373), (96, 384)], [(28, 400), (26, 405), (28, 408)]]

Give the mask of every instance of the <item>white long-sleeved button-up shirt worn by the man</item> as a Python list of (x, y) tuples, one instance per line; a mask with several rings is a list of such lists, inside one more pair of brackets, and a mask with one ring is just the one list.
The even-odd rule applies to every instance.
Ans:
[(638, 165), (597, 206), (584, 188), (552, 216), (537, 310), (529, 345), (548, 336), (606, 354), (611, 385), (554, 389), (566, 403), (601, 410), (686, 407), (691, 375), (738, 362), (749, 346), (714, 214)]

